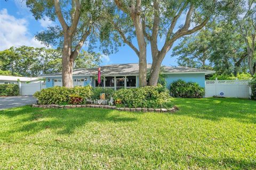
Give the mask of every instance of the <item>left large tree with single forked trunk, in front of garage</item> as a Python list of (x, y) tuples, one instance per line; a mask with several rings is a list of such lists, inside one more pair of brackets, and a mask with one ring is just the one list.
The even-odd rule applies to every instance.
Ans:
[[(27, 0), (35, 19), (58, 19), (60, 26), (49, 27), (36, 38), (62, 48), (62, 85), (73, 87), (73, 66), (86, 39), (97, 28), (101, 1), (93, 0)], [(58, 23), (58, 22), (57, 22)]]

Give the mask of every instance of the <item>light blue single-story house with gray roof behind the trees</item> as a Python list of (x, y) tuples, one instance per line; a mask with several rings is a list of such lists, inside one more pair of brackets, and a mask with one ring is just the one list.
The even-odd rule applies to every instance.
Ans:
[[(74, 86), (92, 87), (103, 86), (105, 88), (135, 88), (139, 87), (139, 64), (110, 64), (101, 66), (102, 83), (98, 84), (98, 68), (90, 69), (75, 69), (73, 70), (73, 83)], [(148, 70), (151, 64), (147, 64)], [(196, 82), (200, 86), (205, 85), (205, 75), (213, 74), (215, 71), (188, 68), (188, 67), (169, 67), (163, 66), (163, 74), (166, 74), (167, 88), (170, 88), (172, 82), (178, 79), (185, 80), (186, 82)], [(52, 86), (62, 86), (61, 72), (42, 75), (46, 78), (46, 88)]]

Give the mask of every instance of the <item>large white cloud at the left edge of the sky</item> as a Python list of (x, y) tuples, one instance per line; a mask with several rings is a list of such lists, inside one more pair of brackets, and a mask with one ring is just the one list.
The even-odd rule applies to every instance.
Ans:
[(24, 18), (17, 19), (9, 15), (6, 9), (0, 11), (0, 50), (11, 46), (43, 47), (28, 30), (28, 21)]

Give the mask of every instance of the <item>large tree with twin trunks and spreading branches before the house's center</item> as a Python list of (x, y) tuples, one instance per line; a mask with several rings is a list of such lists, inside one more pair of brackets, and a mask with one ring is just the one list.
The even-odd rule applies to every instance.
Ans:
[[(115, 0), (114, 3), (108, 3), (106, 20), (109, 33), (115, 36), (118, 33), (123, 43), (139, 56), (140, 86), (147, 84), (147, 43), (150, 43), (153, 63), (149, 85), (156, 85), (162, 61), (173, 43), (202, 29), (222, 11), (230, 12), (238, 2)], [(134, 37), (136, 42), (133, 41)], [(164, 39), (164, 42), (159, 43), (159, 39)]]

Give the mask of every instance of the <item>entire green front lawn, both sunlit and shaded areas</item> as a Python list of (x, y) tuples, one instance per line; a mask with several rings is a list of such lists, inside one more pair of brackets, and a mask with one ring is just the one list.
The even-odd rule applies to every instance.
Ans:
[(256, 169), (256, 101), (174, 103), (174, 114), (2, 110), (0, 169)]

